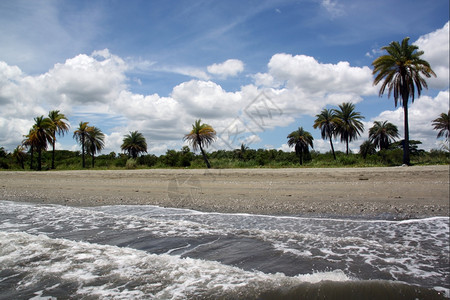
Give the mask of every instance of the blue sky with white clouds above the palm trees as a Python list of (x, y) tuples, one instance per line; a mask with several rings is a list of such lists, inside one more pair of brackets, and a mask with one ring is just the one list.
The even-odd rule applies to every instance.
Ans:
[(379, 97), (371, 63), (405, 37), (437, 74), (410, 103), (410, 139), (439, 149), (431, 123), (449, 109), (448, 0), (2, 0), (0, 147), (13, 151), (35, 117), (59, 110), (70, 131), (57, 149), (80, 150), (73, 131), (89, 122), (106, 135), (103, 154), (139, 131), (161, 155), (201, 119), (217, 132), (208, 151), (292, 151), (286, 137), (303, 127), (327, 152), (315, 116), (352, 102), (365, 117), (358, 152), (374, 121), (403, 138), (403, 110)]

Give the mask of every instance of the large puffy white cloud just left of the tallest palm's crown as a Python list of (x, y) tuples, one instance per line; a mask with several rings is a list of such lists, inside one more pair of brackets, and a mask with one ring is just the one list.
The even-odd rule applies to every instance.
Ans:
[(275, 54), (268, 72), (253, 78), (283, 112), (277, 126), (286, 126), (301, 115), (314, 116), (326, 105), (357, 103), (376, 94), (368, 67), (352, 67), (348, 62), (324, 64), (306, 55)]

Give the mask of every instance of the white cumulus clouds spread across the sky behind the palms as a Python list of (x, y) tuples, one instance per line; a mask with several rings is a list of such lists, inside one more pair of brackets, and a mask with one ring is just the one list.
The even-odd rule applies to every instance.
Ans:
[[(410, 107), (411, 139), (423, 141), (425, 149), (436, 144), (432, 119), (448, 110), (448, 55), (443, 55), (445, 51), (448, 54), (446, 32), (448, 23), (417, 41), (438, 73), (437, 81), (429, 81), (430, 87), (446, 89), (435, 96), (422, 96)], [(345, 61), (322, 63), (306, 55), (273, 55), (266, 72), (249, 74), (253, 84), (234, 92), (212, 81), (201, 69), (179, 68), (178, 73), (197, 79), (175, 85), (168, 95), (138, 94), (130, 90), (127, 75), (137, 65), (108, 49), (76, 55), (35, 76), (0, 61), (0, 145), (14, 149), (34, 117), (59, 109), (69, 117), (72, 127), (83, 120), (105, 131), (104, 153), (120, 151), (123, 136), (135, 130), (147, 138), (151, 153), (178, 149), (184, 134), (199, 118), (216, 129), (219, 139), (215, 148), (238, 148), (242, 142), (264, 143), (261, 132), (290, 126), (304, 115), (315, 116), (325, 106), (362, 102), (377, 94), (369, 67), (353, 67)], [(146, 64), (150, 65), (154, 71), (152, 64)], [(244, 64), (227, 60), (207, 69), (209, 74), (225, 78), (243, 72)], [(382, 112), (367, 125), (374, 120), (388, 120), (403, 130), (401, 109)], [(350, 145), (353, 151), (362, 139)], [(74, 144), (61, 147), (78, 149)], [(329, 151), (328, 141), (317, 138), (314, 145), (316, 150)], [(335, 145), (337, 150), (345, 149), (338, 141)]]

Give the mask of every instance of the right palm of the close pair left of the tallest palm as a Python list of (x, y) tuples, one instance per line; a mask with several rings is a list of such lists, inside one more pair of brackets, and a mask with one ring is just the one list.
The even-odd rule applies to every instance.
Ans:
[(348, 144), (356, 140), (364, 130), (364, 125), (360, 120), (364, 119), (359, 112), (355, 111), (353, 103), (342, 103), (338, 109), (333, 109), (336, 116), (336, 135), (341, 137), (341, 142), (345, 142), (347, 146), (346, 154), (348, 155)]

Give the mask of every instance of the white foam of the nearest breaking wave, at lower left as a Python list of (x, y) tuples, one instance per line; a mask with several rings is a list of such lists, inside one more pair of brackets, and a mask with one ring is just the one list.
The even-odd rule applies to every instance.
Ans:
[[(53, 276), (77, 283), (80, 296), (112, 298), (154, 295), (178, 299), (205, 291), (219, 297), (249, 285), (261, 292), (304, 282), (350, 280), (342, 271), (288, 277), (244, 271), (218, 262), (5, 232), (0, 232), (0, 264), (27, 274), (19, 290)], [(99, 280), (104, 283), (99, 285)]]

